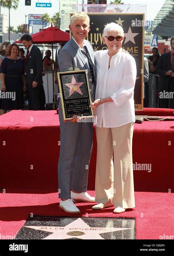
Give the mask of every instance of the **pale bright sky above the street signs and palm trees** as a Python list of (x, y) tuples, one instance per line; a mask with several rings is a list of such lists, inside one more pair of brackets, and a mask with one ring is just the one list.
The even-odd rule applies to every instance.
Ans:
[[(40, 3), (52, 3), (52, 8), (38, 8), (36, 2)], [(163, 6), (165, 0), (122, 0), (124, 4), (147, 4), (147, 20), (153, 20)], [(17, 28), (20, 24), (25, 24), (25, 14), (44, 14), (49, 13), (52, 16), (54, 13), (59, 11), (59, 0), (31, 0), (31, 6), (25, 6), (25, 0), (19, 0), (19, 7), (17, 10), (11, 10), (11, 26)], [(78, 0), (79, 3), (81, 1)], [(85, 0), (85, 3), (87, 0)], [(110, 3), (110, 0), (108, 0)], [(8, 15), (7, 8), (1, 8), (1, 14)], [(28, 21), (28, 18), (27, 18)], [(28, 22), (26, 22), (28, 23)]]

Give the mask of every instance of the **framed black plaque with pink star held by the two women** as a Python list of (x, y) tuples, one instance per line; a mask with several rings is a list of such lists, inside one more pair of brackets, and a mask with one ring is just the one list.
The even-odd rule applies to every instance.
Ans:
[(88, 70), (58, 72), (57, 76), (64, 120), (70, 120), (74, 115), (93, 117)]

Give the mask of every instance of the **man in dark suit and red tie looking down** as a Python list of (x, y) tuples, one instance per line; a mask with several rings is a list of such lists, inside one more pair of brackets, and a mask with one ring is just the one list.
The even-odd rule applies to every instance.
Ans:
[(45, 110), (45, 92), (41, 74), (43, 71), (42, 54), (33, 44), (30, 35), (23, 35), (21, 42), (27, 50), (24, 73), (26, 74), (29, 110)]

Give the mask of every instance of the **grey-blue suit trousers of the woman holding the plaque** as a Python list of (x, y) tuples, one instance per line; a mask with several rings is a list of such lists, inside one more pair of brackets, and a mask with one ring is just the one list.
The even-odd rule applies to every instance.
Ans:
[(64, 123), (59, 108), (61, 148), (58, 161), (59, 198), (70, 199), (70, 190), (87, 191), (93, 148), (93, 123)]

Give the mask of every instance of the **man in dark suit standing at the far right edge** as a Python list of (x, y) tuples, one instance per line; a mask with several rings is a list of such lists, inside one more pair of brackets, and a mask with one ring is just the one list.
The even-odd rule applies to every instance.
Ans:
[(156, 74), (159, 77), (159, 106), (174, 108), (174, 38), (170, 41), (171, 51), (162, 54), (157, 62)]

